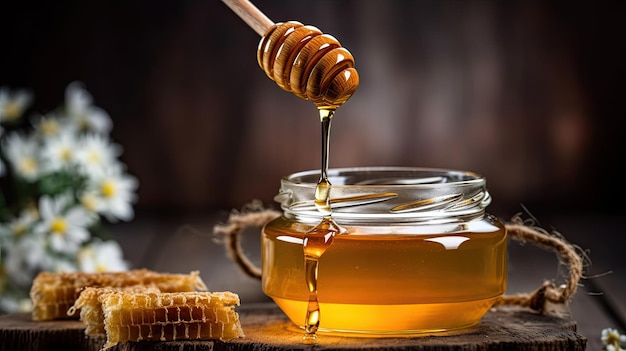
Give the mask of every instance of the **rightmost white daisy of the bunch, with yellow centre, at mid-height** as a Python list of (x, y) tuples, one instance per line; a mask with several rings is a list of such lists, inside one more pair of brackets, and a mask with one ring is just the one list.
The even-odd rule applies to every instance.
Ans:
[(89, 180), (81, 201), (85, 205), (85, 196), (90, 196), (97, 211), (109, 221), (128, 221), (135, 215), (132, 203), (136, 199), (137, 185), (137, 179), (122, 173), (120, 167), (109, 167)]

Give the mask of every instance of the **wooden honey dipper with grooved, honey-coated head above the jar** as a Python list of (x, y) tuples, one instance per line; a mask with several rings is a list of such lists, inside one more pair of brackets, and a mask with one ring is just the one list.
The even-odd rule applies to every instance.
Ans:
[(354, 57), (333, 36), (296, 21), (274, 23), (247, 0), (223, 2), (261, 36), (259, 66), (283, 90), (320, 110), (335, 110), (354, 94)]

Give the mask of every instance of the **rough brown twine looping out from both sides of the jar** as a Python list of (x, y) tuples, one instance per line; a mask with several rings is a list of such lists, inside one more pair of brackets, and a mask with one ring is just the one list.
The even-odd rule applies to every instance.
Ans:
[[(243, 253), (241, 234), (247, 228), (263, 227), (280, 215), (279, 211), (264, 208), (260, 201), (252, 201), (242, 210), (231, 211), (227, 222), (216, 225), (213, 233), (222, 236), (228, 255), (245, 274), (261, 279), (261, 269)], [(534, 218), (523, 219), (519, 213), (510, 222), (505, 223), (507, 235), (519, 242), (529, 242), (542, 249), (554, 251), (561, 262), (567, 265), (569, 276), (566, 282), (559, 286), (547, 280), (533, 292), (504, 295), (495, 302), (494, 307), (521, 306), (539, 313), (560, 313), (578, 288), (588, 257), (583, 250), (569, 243), (560, 233), (548, 232), (535, 223)]]

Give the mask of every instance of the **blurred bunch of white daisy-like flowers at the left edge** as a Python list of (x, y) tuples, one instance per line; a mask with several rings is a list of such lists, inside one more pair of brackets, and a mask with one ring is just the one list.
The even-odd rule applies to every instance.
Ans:
[(41, 271), (128, 269), (102, 223), (134, 217), (138, 186), (111, 118), (79, 82), (51, 113), (26, 118), (31, 103), (0, 87), (0, 312), (30, 310)]

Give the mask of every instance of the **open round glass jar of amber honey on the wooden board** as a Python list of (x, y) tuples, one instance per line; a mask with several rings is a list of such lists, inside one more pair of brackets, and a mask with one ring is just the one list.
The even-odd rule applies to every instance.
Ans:
[[(319, 171), (281, 180), (282, 216), (262, 231), (262, 287), (303, 327), (309, 301), (303, 243), (322, 220)], [(319, 258), (320, 333), (363, 336), (456, 331), (504, 294), (505, 226), (486, 213), (484, 177), (466, 171), (330, 169), (341, 228)]]

